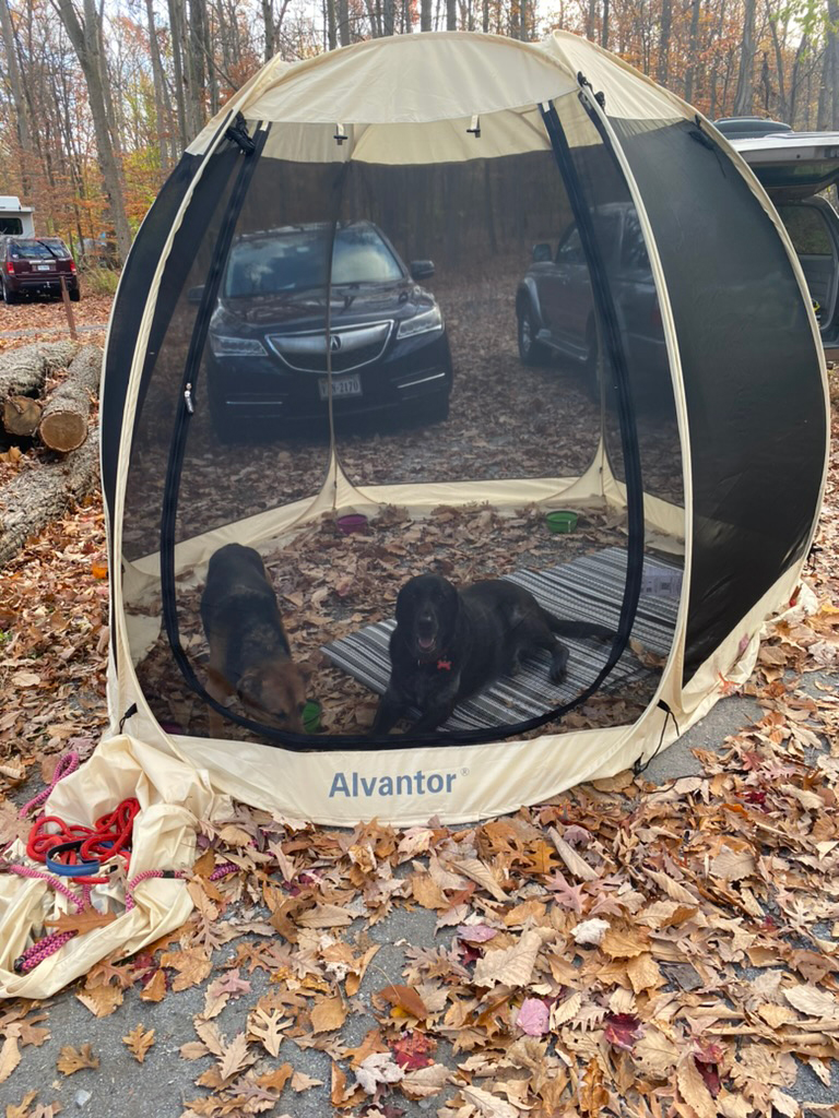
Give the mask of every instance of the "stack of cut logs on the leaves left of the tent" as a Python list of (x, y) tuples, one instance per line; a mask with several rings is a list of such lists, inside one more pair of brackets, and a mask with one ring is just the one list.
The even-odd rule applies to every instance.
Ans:
[[(98, 485), (102, 350), (39, 342), (0, 354), (0, 449), (37, 453), (0, 489), (0, 566)], [(66, 370), (62, 376), (60, 370)]]

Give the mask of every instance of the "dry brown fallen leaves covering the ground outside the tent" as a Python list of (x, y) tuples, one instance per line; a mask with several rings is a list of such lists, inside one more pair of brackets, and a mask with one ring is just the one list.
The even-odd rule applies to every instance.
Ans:
[[(809, 569), (821, 608), (776, 626), (747, 689), (763, 716), (700, 751), (703, 776), (654, 787), (626, 773), (461, 827), (341, 832), (237, 805), (201, 826), (189, 921), (63, 996), (113, 1015), (142, 1093), (166, 1059), (144, 1013), (202, 992), (179, 1038), (195, 1089), (160, 1118), (293, 1115), (309, 1091), (359, 1118), (794, 1118), (802, 1065), (836, 1098), (837, 484)], [(4, 571), (3, 844), (37, 790), (22, 781), (103, 726), (102, 549), (91, 502)], [(435, 934), (405, 947), (393, 980), (376, 932), (398, 912)], [(95, 918), (74, 919), (84, 934)], [(0, 1006), (6, 1118), (60, 1109), (26, 1071), (49, 1014)], [(57, 1073), (102, 1074), (84, 1035), (56, 1040)], [(308, 1050), (328, 1061), (323, 1083), (300, 1067)]]

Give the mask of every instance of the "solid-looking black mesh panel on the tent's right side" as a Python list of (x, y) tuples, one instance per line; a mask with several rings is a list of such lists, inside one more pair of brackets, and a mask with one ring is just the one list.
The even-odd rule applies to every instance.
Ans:
[(689, 123), (614, 125), (654, 230), (685, 378), (694, 482), (687, 680), (807, 546), (824, 396), (784, 246), (714, 140)]

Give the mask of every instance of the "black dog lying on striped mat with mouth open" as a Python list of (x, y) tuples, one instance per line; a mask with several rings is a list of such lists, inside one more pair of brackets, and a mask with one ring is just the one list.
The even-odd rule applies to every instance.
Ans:
[(550, 679), (560, 682), (568, 662), (560, 634), (614, 639), (604, 625), (552, 616), (532, 594), (505, 579), (462, 590), (439, 575), (409, 579), (396, 599), (390, 680), (370, 732), (387, 733), (412, 707), (420, 719), (411, 729), (433, 730), (459, 702), (515, 672), (539, 648), (550, 653)]

